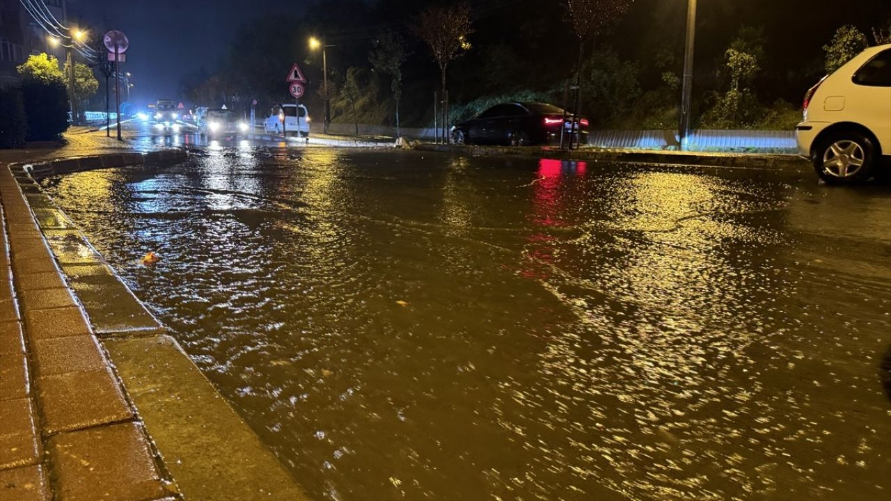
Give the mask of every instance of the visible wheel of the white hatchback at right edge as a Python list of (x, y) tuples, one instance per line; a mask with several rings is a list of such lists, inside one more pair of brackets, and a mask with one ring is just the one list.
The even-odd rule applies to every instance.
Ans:
[(876, 146), (854, 130), (830, 134), (813, 151), (813, 169), (827, 185), (856, 185), (869, 179)]

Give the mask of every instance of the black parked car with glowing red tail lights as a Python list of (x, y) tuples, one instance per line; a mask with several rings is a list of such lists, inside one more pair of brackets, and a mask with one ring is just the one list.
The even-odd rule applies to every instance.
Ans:
[[(501, 103), (452, 127), (454, 144), (509, 144), (525, 146), (560, 141), (560, 127), (566, 141), (572, 129), (572, 118), (558, 106), (548, 103)], [(588, 120), (578, 117), (576, 131), (581, 130), (581, 144), (588, 141)], [(577, 138), (574, 138), (577, 139)]]

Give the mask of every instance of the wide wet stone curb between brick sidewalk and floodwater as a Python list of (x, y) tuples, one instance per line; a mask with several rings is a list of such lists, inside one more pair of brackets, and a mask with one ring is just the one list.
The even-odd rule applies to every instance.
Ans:
[[(54, 174), (177, 162), (188, 156), (181, 150), (114, 153), (33, 165), (11, 163), (6, 167), (22, 193), (20, 218), (34, 224), (53, 260), (53, 273), (58, 275), (61, 287), (73, 293), (79, 315), (91, 326), (92, 337), (133, 409), (133, 421), (151, 445), (159, 476), (170, 486), (164, 493), (170, 496), (160, 496), (170, 501), (258, 497), (307, 500), (302, 486), (273, 450), (35, 182)], [(87, 498), (92, 499), (72, 497)]]

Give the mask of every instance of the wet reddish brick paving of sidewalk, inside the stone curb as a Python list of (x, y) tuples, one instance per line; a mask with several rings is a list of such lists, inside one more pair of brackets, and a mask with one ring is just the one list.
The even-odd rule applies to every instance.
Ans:
[(23, 193), (29, 179), (8, 158), (0, 157), (0, 499), (176, 499), (38, 229)]

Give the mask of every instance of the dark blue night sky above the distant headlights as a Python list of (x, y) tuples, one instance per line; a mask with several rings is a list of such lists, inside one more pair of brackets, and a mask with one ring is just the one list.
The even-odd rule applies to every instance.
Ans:
[[(242, 22), (270, 12), (299, 13), (301, 0), (78, 0), (87, 28), (120, 29), (130, 39), (127, 64), (133, 101), (181, 100), (179, 80), (201, 66), (213, 70)], [(287, 70), (287, 69), (286, 69)]]

